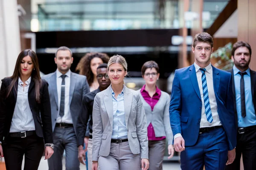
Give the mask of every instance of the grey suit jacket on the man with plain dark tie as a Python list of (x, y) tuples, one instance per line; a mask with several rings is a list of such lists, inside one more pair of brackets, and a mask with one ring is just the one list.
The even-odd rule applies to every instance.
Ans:
[[(52, 111), (52, 130), (55, 128), (58, 117), (58, 92), (57, 92), (57, 77), (56, 71), (44, 75), (44, 78), (49, 84), (49, 96)], [(81, 102), (85, 94), (89, 93), (89, 85), (86, 76), (71, 72), (70, 74), (70, 113), (72, 116), (73, 126), (76, 132), (76, 123), (81, 109)]]

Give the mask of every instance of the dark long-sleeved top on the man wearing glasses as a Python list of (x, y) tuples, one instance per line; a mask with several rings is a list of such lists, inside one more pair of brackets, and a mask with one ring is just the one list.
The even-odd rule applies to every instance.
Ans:
[(84, 135), (87, 129), (87, 122), (90, 117), (89, 121), (89, 130), (90, 133), (93, 133), (93, 102), (94, 102), (94, 97), (96, 96), (97, 93), (99, 93), (100, 90), (99, 88), (95, 91), (92, 91), (88, 94), (86, 94), (82, 100), (82, 107), (81, 111), (79, 114), (79, 118), (77, 120), (77, 125), (76, 125), (76, 131), (77, 131), (77, 137), (78, 141), (77, 144), (78, 146), (84, 145)]

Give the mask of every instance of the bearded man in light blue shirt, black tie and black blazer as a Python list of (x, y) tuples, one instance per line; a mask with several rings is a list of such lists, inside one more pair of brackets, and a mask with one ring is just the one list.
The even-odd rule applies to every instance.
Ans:
[(233, 69), (229, 70), (233, 79), (234, 110), (237, 125), (236, 159), (227, 170), (240, 170), (241, 154), (244, 170), (256, 170), (256, 72), (250, 70), (252, 50), (247, 42), (233, 45)]

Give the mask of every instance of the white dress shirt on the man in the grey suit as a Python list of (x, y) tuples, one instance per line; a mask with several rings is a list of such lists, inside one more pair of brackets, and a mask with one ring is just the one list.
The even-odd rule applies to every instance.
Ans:
[(58, 117), (57, 117), (57, 123), (70, 123), (73, 124), (72, 121), (72, 116), (70, 113), (70, 105), (69, 105), (69, 100), (70, 100), (70, 75), (71, 71), (67, 71), (65, 74), (65, 106), (64, 106), (64, 116), (59, 116), (60, 112), (60, 104), (61, 104), (61, 83), (62, 83), (62, 78), (61, 78), (62, 73), (60, 71), (56, 71), (56, 76), (57, 76), (57, 92), (58, 92)]

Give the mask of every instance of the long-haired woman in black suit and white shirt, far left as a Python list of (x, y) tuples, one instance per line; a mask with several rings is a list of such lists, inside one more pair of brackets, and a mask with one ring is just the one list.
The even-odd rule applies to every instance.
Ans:
[(45, 147), (45, 159), (53, 154), (48, 83), (41, 79), (34, 51), (21, 51), (11, 77), (0, 89), (0, 157), (7, 170), (37, 170)]

